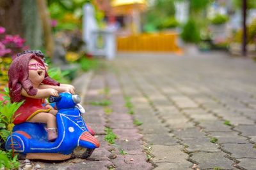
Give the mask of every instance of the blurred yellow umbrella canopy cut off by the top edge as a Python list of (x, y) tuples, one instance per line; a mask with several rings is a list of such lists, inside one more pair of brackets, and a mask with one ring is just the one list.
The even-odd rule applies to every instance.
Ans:
[(115, 15), (128, 15), (132, 10), (143, 11), (145, 10), (146, 0), (113, 0), (111, 6)]

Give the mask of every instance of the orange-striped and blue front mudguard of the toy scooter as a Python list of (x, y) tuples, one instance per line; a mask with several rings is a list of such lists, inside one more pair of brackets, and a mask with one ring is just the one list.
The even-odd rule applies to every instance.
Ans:
[(89, 132), (83, 132), (83, 134), (81, 134), (81, 136), (78, 139), (78, 146), (94, 149), (94, 148), (99, 148), (100, 143)]

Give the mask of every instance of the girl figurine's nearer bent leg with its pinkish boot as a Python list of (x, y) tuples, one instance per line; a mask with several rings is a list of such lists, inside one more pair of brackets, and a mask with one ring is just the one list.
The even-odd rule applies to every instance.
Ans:
[(54, 141), (54, 139), (58, 137), (56, 117), (51, 113), (38, 113), (33, 118), (28, 120), (28, 122), (47, 124), (47, 137), (49, 141)]

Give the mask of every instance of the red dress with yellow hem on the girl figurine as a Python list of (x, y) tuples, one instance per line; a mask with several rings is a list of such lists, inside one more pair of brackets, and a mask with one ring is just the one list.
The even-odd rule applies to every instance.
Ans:
[(37, 113), (48, 113), (50, 110), (52, 110), (51, 108), (45, 108), (42, 106), (42, 103), (44, 103), (44, 99), (33, 99), (30, 97), (25, 97), (24, 103), (13, 115), (15, 118), (13, 124), (21, 124), (34, 117)]

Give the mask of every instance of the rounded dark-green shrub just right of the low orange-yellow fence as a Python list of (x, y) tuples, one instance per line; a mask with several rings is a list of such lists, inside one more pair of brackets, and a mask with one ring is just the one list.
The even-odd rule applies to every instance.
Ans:
[(198, 43), (200, 41), (200, 31), (194, 20), (188, 20), (180, 36), (187, 43)]

